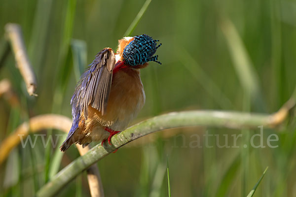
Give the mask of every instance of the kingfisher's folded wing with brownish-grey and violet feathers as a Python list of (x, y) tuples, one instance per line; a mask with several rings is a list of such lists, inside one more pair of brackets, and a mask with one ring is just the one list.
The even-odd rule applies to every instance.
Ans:
[(83, 111), (84, 119), (87, 120), (89, 105), (102, 115), (106, 113), (114, 65), (115, 56), (111, 48), (105, 48), (96, 55), (90, 67), (81, 75), (71, 99), (73, 117)]

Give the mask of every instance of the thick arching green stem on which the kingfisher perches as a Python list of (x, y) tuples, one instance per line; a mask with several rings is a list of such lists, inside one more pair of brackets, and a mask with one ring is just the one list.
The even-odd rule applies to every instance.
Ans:
[(279, 122), (274, 119), (274, 116), (275, 115), (269, 114), (222, 111), (184, 111), (156, 116), (114, 135), (111, 138), (112, 145), (108, 145), (108, 142), (105, 142), (103, 146), (98, 144), (93, 147), (85, 155), (77, 158), (56, 174), (50, 182), (37, 192), (37, 197), (54, 196), (58, 191), (64, 188), (67, 183), (73, 180), (90, 165), (98, 162), (128, 142), (149, 133), (190, 126), (212, 126), (233, 129), (257, 128), (258, 126), (272, 128), (274, 127), (274, 121), (279, 124)]

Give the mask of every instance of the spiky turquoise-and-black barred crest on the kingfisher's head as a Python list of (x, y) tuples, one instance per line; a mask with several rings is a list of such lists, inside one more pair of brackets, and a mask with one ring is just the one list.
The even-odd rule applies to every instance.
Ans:
[(157, 62), (158, 55), (153, 56), (156, 49), (161, 46), (156, 46), (156, 42), (159, 40), (153, 40), (152, 37), (143, 34), (134, 36), (132, 40), (123, 50), (122, 60), (126, 65), (137, 66), (143, 65), (147, 62)]

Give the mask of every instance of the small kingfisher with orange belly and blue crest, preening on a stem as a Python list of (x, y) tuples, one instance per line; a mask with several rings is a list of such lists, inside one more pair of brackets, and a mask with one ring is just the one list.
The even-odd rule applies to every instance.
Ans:
[(157, 61), (159, 40), (143, 34), (118, 40), (114, 54), (111, 48), (100, 51), (81, 75), (72, 105), (72, 127), (60, 147), (66, 151), (72, 144), (83, 147), (92, 141), (104, 141), (125, 130), (145, 104), (140, 69)]

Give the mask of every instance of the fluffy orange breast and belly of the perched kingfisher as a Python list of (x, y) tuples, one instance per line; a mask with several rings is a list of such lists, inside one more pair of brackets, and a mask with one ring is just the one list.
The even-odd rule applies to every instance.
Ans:
[(88, 107), (88, 119), (84, 132), (92, 132), (94, 127), (109, 127), (115, 131), (125, 130), (145, 103), (145, 93), (139, 69), (124, 68), (113, 75), (107, 111), (101, 112)]

